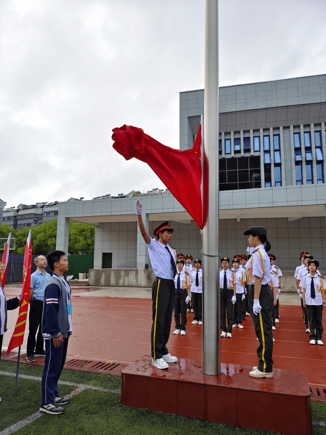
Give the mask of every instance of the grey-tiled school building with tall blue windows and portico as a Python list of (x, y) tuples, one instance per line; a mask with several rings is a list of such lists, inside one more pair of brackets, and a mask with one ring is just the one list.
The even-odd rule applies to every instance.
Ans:
[[(180, 93), (181, 150), (193, 146), (203, 108), (204, 90)], [(326, 75), (220, 87), (219, 119), (220, 253), (244, 253), (243, 232), (262, 225), (282, 269), (294, 270), (303, 250), (326, 268)], [(59, 203), (57, 248), (68, 251), (70, 220), (95, 225), (96, 284), (146, 281), (136, 199), (151, 235), (169, 220), (176, 251), (202, 257), (198, 226), (168, 190), (70, 198)]]

